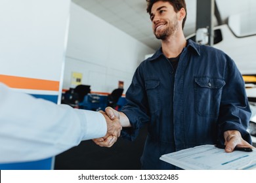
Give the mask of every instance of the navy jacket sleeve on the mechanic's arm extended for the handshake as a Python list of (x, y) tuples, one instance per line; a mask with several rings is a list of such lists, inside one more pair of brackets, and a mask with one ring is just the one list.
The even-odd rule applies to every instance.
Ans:
[(123, 128), (121, 136), (133, 141), (139, 135), (140, 127), (147, 123), (150, 118), (141, 65), (135, 71), (125, 96), (127, 104), (122, 108), (122, 112), (129, 118), (132, 127)]

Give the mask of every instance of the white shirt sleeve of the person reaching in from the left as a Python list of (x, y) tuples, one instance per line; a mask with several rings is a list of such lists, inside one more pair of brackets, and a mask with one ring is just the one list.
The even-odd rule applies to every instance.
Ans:
[(106, 130), (100, 112), (35, 99), (0, 83), (0, 163), (50, 158)]

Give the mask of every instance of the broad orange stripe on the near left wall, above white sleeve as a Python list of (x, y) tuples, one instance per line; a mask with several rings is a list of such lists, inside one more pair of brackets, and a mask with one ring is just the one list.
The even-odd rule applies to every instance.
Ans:
[(35, 78), (24, 78), (19, 76), (0, 75), (0, 82), (11, 88), (30, 90), (51, 90), (58, 91), (60, 82), (53, 80), (41, 80)]

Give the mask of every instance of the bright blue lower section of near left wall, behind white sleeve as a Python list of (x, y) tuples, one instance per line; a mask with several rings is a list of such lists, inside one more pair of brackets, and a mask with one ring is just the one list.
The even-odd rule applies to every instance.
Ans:
[[(33, 95), (33, 97), (45, 99), (57, 103), (58, 95)], [(39, 161), (29, 161), (25, 163), (3, 163), (0, 170), (51, 170), (53, 169), (53, 158)]]

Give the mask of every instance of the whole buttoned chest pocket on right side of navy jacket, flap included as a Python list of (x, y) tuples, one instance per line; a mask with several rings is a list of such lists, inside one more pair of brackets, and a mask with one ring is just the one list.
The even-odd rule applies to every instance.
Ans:
[(221, 78), (194, 78), (195, 109), (200, 116), (219, 116), (221, 93), (226, 84)]

